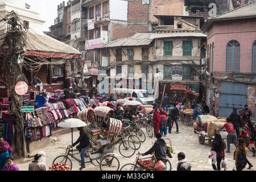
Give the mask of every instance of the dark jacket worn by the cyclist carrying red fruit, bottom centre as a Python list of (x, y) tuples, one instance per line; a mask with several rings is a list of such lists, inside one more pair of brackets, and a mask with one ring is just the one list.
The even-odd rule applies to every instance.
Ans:
[(164, 141), (164, 139), (156, 140), (154, 146), (152, 146), (150, 150), (145, 152), (145, 155), (152, 154), (152, 152), (155, 152), (156, 160), (162, 160), (164, 163), (166, 163), (166, 154), (170, 158), (172, 158), (171, 152), (169, 151), (169, 148), (166, 146), (166, 141)]

